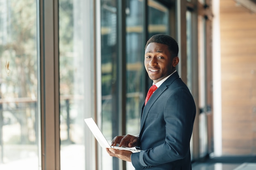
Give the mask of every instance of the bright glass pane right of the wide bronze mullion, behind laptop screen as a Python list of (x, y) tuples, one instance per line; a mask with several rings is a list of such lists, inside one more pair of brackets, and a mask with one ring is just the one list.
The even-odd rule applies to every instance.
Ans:
[(94, 140), (86, 138), (83, 120), (92, 117), (94, 108), (91, 2), (59, 0), (61, 170), (90, 169), (95, 154), (86, 151)]

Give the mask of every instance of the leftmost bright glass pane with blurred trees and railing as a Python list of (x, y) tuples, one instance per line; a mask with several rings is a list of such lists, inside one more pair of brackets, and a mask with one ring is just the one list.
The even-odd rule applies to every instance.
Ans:
[(40, 168), (36, 0), (0, 0), (0, 169)]

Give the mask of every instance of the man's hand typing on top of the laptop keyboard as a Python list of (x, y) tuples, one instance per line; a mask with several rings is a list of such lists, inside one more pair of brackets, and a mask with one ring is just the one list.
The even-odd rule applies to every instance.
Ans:
[(119, 146), (124, 146), (124, 147), (128, 147), (128, 148), (132, 148), (135, 146), (139, 146), (139, 137), (135, 137), (132, 135), (126, 135), (126, 136), (116, 136), (113, 140), (112, 140), (112, 146), (117, 146), (117, 144), (119, 144)]

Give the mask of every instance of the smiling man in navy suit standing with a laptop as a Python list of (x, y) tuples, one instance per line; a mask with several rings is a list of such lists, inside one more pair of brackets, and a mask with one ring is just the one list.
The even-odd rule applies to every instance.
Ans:
[(142, 106), (139, 137), (117, 136), (112, 141), (113, 146), (138, 147), (141, 152), (106, 149), (112, 157), (131, 161), (136, 170), (191, 170), (189, 144), (196, 109), (175, 68), (178, 51), (177, 42), (168, 35), (148, 40), (144, 64), (157, 89)]

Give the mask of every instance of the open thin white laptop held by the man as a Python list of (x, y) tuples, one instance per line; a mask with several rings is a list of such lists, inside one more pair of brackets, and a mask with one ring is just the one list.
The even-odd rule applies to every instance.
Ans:
[(113, 148), (113, 149), (119, 149), (119, 150), (129, 150), (129, 151), (131, 151), (133, 153), (141, 151), (141, 150), (138, 150), (136, 148), (126, 148), (126, 147), (119, 147), (119, 146), (111, 146), (108, 143), (107, 139), (104, 137), (104, 135), (102, 134), (101, 130), (99, 129), (99, 127), (97, 126), (97, 124), (95, 123), (95, 121), (92, 118), (84, 119), (84, 121), (87, 124), (87, 126), (89, 127), (89, 129), (92, 131), (92, 134), (97, 139), (97, 141), (99, 142), (99, 144), (100, 144), (100, 146), (102, 148)]

